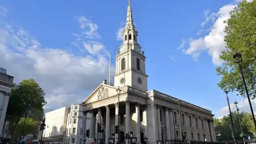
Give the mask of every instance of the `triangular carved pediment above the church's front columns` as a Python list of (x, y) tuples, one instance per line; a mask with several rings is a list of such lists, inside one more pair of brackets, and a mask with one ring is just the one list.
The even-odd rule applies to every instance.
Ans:
[[(117, 95), (118, 87), (107, 85), (107, 84), (100, 84), (90, 95), (86, 98), (82, 104), (91, 103), (100, 101), (103, 99), (110, 98), (114, 95)], [(127, 90), (121, 89), (121, 93), (126, 92)]]

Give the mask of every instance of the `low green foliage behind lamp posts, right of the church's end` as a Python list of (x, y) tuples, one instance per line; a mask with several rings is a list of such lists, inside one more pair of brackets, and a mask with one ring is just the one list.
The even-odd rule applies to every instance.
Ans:
[[(252, 121), (252, 115), (248, 113), (239, 113), (242, 123), (242, 129), (245, 135), (252, 135), (254, 126)], [(239, 134), (241, 134), (241, 127), (239, 124), (238, 115), (236, 112), (232, 113), (234, 123), (234, 133), (236, 140), (242, 140)], [(250, 119), (251, 117), (251, 119)], [(231, 123), (230, 116), (224, 116), (223, 118), (214, 118), (215, 132), (218, 140), (226, 140), (232, 138), (231, 135)], [(251, 126), (251, 127), (250, 127)]]

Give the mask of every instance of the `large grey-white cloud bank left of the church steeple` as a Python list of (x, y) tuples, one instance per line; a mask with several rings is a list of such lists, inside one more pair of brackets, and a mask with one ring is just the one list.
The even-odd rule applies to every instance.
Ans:
[[(87, 22), (91, 23), (89, 20)], [(86, 23), (84, 25), (87, 26)], [(84, 28), (83, 24), (81, 28)], [(91, 31), (98, 34), (95, 30)], [(86, 42), (83, 35), (73, 35), (78, 45)], [(92, 43), (89, 48), (81, 46), (81, 49), (83, 47), (89, 52), (81, 57), (69, 50), (42, 47), (25, 28), (4, 22), (0, 26), (1, 67), (14, 76), (15, 83), (25, 78), (35, 78), (45, 90), (46, 109), (67, 106), (82, 102), (87, 97), (85, 94), (108, 77), (106, 49), (99, 42)], [(114, 69), (111, 67), (111, 71)]]

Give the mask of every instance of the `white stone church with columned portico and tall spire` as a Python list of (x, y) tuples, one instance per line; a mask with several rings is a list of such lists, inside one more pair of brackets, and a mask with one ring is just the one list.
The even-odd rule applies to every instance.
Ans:
[[(116, 53), (116, 74), (114, 86), (103, 81), (82, 102), (89, 138), (97, 138), (97, 122), (105, 133), (99, 139), (108, 143), (117, 138), (115, 126), (119, 124), (121, 135), (129, 133), (138, 143), (158, 141), (216, 141), (213, 114), (210, 110), (195, 106), (170, 95), (148, 90), (145, 59), (138, 43), (132, 10), (129, 3), (126, 26), (123, 30), (123, 44)], [(118, 89), (119, 87), (119, 89)], [(118, 91), (119, 90), (119, 91)], [(119, 93), (119, 108), (118, 108)], [(117, 141), (117, 140), (116, 140)]]

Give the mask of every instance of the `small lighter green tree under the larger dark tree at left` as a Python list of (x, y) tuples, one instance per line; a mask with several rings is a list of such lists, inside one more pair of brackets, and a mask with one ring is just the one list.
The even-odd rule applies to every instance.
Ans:
[[(23, 124), (24, 124), (25, 118), (21, 118), (19, 124), (17, 125), (15, 129), (16, 135), (21, 135), (23, 130)], [(38, 125), (39, 122), (35, 121), (33, 118), (26, 118), (25, 121), (25, 129), (23, 131), (23, 135), (27, 134), (36, 134), (38, 131)]]

